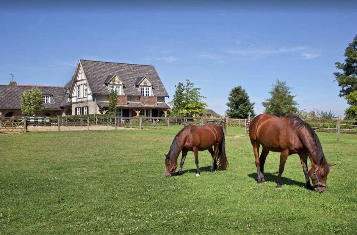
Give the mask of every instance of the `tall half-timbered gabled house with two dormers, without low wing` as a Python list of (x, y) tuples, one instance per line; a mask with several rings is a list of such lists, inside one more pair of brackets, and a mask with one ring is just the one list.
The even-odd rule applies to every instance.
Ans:
[(79, 60), (70, 83), (67, 104), (61, 104), (66, 114), (69, 109), (72, 115), (105, 114), (112, 88), (117, 92), (117, 116), (157, 117), (170, 108), (165, 103), (169, 95), (152, 65)]

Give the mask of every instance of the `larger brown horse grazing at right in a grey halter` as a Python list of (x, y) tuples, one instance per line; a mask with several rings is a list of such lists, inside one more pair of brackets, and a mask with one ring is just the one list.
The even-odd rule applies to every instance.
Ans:
[[(312, 189), (309, 175), (316, 192), (326, 189), (329, 166), (322, 151), (320, 140), (310, 125), (295, 115), (277, 117), (272, 114), (260, 114), (249, 125), (249, 137), (253, 145), (255, 165), (258, 171), (258, 184), (264, 179), (264, 163), (269, 151), (280, 152), (279, 174), (276, 187), (281, 188), (280, 177), (284, 171), (287, 156), (298, 154), (305, 174), (306, 187)], [(259, 157), (259, 147), (263, 147)], [(311, 169), (307, 171), (307, 156), (310, 157)]]

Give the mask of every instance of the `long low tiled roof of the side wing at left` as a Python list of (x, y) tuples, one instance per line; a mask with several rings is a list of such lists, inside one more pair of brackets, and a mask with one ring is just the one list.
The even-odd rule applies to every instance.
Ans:
[(42, 94), (52, 95), (54, 103), (44, 104), (44, 109), (61, 109), (60, 103), (66, 94), (67, 88), (60, 86), (33, 86), (33, 85), (0, 85), (0, 109), (21, 109), (21, 95), (25, 90), (37, 87)]

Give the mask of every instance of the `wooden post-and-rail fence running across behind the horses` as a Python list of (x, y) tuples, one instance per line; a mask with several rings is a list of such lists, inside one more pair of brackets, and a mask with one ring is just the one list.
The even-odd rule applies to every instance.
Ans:
[[(170, 126), (188, 124), (206, 125), (217, 124), (223, 127), (227, 133), (227, 126), (238, 126), (245, 128), (248, 133), (251, 120), (232, 118), (211, 118), (211, 117), (106, 117), (106, 116), (31, 116), (31, 117), (0, 117), (0, 133), (17, 134), (25, 132), (27, 126), (82, 126), (90, 130), (90, 126), (105, 125), (127, 128), (152, 128), (159, 126)], [(340, 141), (341, 133), (357, 133), (356, 120), (312, 120), (305, 119), (313, 130), (320, 132), (335, 132), (337, 140)]]

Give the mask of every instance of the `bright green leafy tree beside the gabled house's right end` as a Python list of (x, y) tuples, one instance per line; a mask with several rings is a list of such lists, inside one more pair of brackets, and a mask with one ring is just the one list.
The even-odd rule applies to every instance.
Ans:
[(186, 85), (183, 86), (182, 82), (178, 82), (176, 86), (174, 99), (169, 102), (172, 105), (172, 115), (182, 117), (199, 116), (205, 113), (204, 110), (207, 104), (202, 101), (206, 99), (205, 96), (200, 95), (200, 89), (193, 87), (190, 80), (186, 80)]

